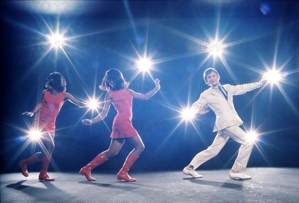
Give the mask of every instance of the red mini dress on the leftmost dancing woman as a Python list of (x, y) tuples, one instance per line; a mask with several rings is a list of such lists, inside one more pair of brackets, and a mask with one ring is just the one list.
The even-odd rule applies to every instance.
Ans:
[(55, 120), (64, 103), (64, 92), (53, 97), (49, 91), (43, 96), (40, 111), (33, 119), (33, 129), (41, 132), (49, 132), (52, 137), (55, 136)]

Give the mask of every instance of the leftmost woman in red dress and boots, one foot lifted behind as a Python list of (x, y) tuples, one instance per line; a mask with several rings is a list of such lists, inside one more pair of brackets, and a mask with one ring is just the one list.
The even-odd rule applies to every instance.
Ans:
[(24, 115), (33, 116), (34, 113), (40, 109), (33, 119), (32, 128), (34, 131), (41, 133), (40, 141), (42, 152), (36, 152), (29, 158), (20, 161), (19, 166), (23, 176), (28, 177), (27, 166), (34, 162), (42, 161), (38, 180), (54, 181), (54, 178), (48, 176), (47, 170), (54, 150), (56, 117), (66, 100), (78, 106), (86, 106), (87, 103), (80, 102), (71, 94), (65, 92), (66, 81), (60, 73), (54, 72), (47, 77), (46, 88), (47, 90), (41, 92), (41, 101), (37, 103), (33, 110), (23, 112)]

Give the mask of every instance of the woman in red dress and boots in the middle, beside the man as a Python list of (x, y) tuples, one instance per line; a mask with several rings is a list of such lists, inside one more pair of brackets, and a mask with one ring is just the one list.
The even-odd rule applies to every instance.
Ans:
[(131, 178), (128, 175), (128, 171), (144, 150), (145, 145), (132, 125), (132, 102), (133, 98), (148, 100), (160, 89), (159, 82), (158, 79), (155, 79), (154, 83), (156, 87), (149, 93), (143, 95), (128, 89), (129, 84), (118, 69), (110, 69), (106, 72), (100, 85), (101, 90), (107, 91), (103, 111), (92, 120), (83, 119), (82, 123), (84, 125), (91, 125), (103, 120), (107, 116), (111, 103), (117, 110), (117, 115), (113, 121), (112, 134), (110, 136), (112, 140), (109, 149), (100, 153), (79, 172), (82, 176), (84, 175), (88, 181), (96, 180), (91, 177), (91, 170), (104, 163), (109, 158), (116, 156), (126, 140), (133, 145), (134, 149), (128, 155), (122, 169), (117, 174), (117, 179), (136, 181), (135, 178)]

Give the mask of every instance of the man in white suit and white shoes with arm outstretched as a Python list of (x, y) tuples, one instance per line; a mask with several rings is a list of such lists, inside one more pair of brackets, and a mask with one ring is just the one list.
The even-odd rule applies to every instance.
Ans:
[(184, 168), (183, 173), (194, 178), (201, 178), (202, 176), (194, 170), (216, 156), (231, 137), (240, 143), (241, 147), (229, 176), (231, 179), (251, 179), (250, 176), (245, 174), (245, 171), (254, 142), (248, 139), (247, 133), (240, 128), (243, 121), (234, 108), (233, 96), (242, 95), (259, 88), (267, 80), (263, 78), (260, 82), (256, 83), (236, 86), (227, 84), (221, 86), (219, 73), (213, 68), (205, 70), (203, 77), (205, 83), (211, 87), (204, 91), (199, 99), (192, 104), (191, 110), (196, 115), (202, 115), (207, 113), (207, 107), (210, 107), (216, 114), (213, 132), (218, 131), (218, 133), (212, 145), (198, 153), (191, 163)]

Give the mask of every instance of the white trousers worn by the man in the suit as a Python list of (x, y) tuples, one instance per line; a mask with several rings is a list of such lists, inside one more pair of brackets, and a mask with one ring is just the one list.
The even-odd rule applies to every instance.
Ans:
[(194, 170), (204, 162), (216, 156), (230, 137), (241, 144), (232, 170), (245, 172), (254, 142), (247, 139), (246, 132), (244, 132), (239, 126), (230, 126), (219, 130), (212, 145), (206, 150), (198, 153), (192, 159), (190, 165), (193, 166)]

